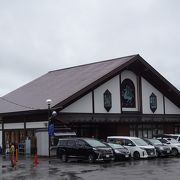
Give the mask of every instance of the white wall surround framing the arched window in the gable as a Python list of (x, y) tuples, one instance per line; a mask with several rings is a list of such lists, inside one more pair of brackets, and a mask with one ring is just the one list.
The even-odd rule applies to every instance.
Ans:
[(136, 108), (122, 108), (123, 111), (138, 111), (138, 98), (137, 98), (137, 76), (132, 71), (125, 70), (121, 73), (121, 83), (125, 79), (130, 79), (135, 86), (135, 92), (136, 92)]

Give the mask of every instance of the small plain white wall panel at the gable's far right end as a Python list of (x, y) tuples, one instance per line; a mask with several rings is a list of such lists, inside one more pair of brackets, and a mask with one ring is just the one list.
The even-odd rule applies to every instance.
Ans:
[(165, 97), (165, 114), (180, 114), (180, 108)]

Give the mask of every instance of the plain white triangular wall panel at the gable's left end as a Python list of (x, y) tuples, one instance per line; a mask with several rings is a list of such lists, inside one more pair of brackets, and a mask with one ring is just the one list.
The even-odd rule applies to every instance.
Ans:
[(72, 103), (61, 112), (92, 113), (92, 92)]

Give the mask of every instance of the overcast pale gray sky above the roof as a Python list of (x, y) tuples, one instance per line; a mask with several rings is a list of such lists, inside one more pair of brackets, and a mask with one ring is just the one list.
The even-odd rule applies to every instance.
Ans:
[(132, 54), (180, 90), (179, 0), (0, 0), (0, 96), (51, 70)]

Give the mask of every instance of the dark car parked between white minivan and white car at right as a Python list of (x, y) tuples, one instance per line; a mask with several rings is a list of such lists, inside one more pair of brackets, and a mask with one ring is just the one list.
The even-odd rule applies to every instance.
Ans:
[(169, 156), (169, 155), (171, 155), (171, 147), (163, 144), (158, 139), (143, 138), (143, 140), (146, 141), (148, 144), (155, 147), (157, 156)]

